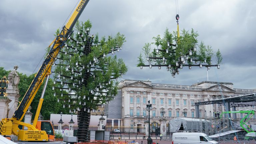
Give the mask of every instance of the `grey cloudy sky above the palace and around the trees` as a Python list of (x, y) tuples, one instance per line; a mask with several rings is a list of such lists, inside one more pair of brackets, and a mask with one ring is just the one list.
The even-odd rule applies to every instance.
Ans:
[[(231, 82), (234, 88), (256, 88), (256, 1), (255, 0), (179, 0), (179, 27), (195, 29), (198, 41), (220, 49), (221, 69), (208, 71), (209, 81)], [(30, 75), (45, 54), (75, 7), (77, 0), (2, 0), (0, 5), (1, 64), (6, 70), (18, 65), (19, 72)], [(128, 65), (128, 73), (119, 80), (150, 80), (152, 83), (192, 85), (207, 81), (206, 68), (183, 68), (176, 78), (166, 69), (142, 70), (137, 57), (146, 42), (163, 35), (166, 28), (177, 29), (175, 0), (90, 0), (80, 21), (90, 19), (91, 33), (115, 35), (127, 42), (118, 54)], [(4, 55), (4, 56), (3, 56)], [(39, 65), (41, 65), (40, 62)], [(39, 68), (36, 68), (37, 71)]]

